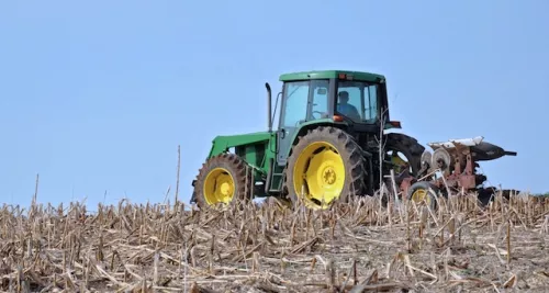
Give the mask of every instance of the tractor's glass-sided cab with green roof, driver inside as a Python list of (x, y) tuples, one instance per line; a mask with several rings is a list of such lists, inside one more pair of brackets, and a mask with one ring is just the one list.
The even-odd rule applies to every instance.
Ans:
[[(356, 71), (310, 71), (280, 76), (282, 101), (277, 162), (287, 164), (288, 150), (303, 126), (346, 124), (352, 133), (379, 133), (380, 117), (389, 122), (383, 76)], [(385, 128), (399, 127), (385, 123)]]

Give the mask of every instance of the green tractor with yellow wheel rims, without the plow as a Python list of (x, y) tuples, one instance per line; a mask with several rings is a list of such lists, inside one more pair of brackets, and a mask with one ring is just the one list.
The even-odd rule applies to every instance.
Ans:
[(401, 125), (389, 119), (383, 76), (323, 70), (279, 80), (278, 129), (272, 129), (277, 111), (266, 83), (268, 131), (215, 137), (192, 181), (191, 203), (205, 209), (278, 196), (327, 209), (372, 195), (391, 169), (417, 176), (425, 147), (404, 134), (385, 133)]

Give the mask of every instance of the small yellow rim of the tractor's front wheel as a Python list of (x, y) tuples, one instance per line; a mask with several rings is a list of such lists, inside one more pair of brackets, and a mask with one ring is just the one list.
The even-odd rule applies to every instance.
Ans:
[(204, 179), (204, 199), (208, 204), (228, 204), (234, 196), (235, 183), (231, 173), (224, 168), (211, 170)]

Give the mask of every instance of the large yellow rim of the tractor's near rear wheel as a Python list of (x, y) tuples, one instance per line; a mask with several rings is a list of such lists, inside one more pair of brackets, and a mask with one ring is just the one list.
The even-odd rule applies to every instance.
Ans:
[(326, 209), (344, 188), (344, 160), (332, 144), (313, 143), (298, 157), (292, 179), (295, 193), (307, 207)]

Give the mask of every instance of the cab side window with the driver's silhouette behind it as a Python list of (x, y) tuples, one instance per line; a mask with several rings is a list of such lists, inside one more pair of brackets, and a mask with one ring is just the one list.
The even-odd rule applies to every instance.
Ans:
[(376, 123), (378, 88), (379, 84), (366, 81), (338, 81), (337, 113), (357, 123)]

